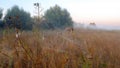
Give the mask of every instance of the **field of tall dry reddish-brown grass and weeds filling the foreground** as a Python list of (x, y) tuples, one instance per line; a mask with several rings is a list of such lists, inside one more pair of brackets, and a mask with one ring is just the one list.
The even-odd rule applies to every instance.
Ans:
[(0, 35), (0, 68), (120, 68), (120, 31), (14, 32)]

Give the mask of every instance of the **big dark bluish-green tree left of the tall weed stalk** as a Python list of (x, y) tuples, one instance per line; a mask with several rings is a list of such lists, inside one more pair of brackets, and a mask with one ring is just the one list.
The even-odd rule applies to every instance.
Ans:
[(6, 24), (10, 28), (18, 29), (32, 29), (32, 19), (30, 14), (23, 9), (20, 9), (18, 6), (13, 6), (11, 9), (8, 9), (7, 14), (4, 17)]

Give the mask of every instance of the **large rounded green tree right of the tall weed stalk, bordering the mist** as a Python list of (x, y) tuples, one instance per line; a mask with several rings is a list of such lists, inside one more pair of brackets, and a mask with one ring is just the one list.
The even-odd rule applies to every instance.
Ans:
[(73, 26), (69, 12), (66, 9), (61, 9), (58, 5), (48, 9), (44, 18), (47, 21), (47, 25), (52, 29), (64, 29), (65, 27)]

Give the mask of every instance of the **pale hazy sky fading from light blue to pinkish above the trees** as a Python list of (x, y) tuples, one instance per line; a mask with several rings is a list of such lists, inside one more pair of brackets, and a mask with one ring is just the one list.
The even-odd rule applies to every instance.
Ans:
[(55, 4), (66, 8), (75, 22), (120, 26), (120, 0), (0, 0), (0, 7), (6, 12), (18, 5), (33, 15), (35, 2), (41, 3), (44, 11)]

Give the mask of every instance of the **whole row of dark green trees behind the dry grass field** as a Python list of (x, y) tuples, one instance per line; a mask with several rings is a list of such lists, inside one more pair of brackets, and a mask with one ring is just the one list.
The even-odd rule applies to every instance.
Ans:
[[(0, 9), (0, 19), (3, 16)], [(73, 21), (70, 13), (66, 9), (55, 5), (44, 12), (44, 16), (40, 21), (35, 21), (37, 18), (31, 17), (29, 12), (20, 9), (17, 5), (7, 10), (6, 15), (0, 20), (0, 29), (17, 28), (20, 30), (32, 30), (33, 26), (39, 29), (65, 29), (73, 27)]]

